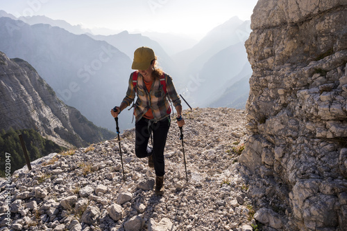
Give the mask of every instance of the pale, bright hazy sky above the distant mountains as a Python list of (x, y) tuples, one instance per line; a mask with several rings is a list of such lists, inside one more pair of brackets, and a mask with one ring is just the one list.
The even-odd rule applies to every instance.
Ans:
[(257, 0), (0, 0), (0, 10), (45, 15), (84, 28), (175, 33), (200, 39), (237, 16), (250, 20)]

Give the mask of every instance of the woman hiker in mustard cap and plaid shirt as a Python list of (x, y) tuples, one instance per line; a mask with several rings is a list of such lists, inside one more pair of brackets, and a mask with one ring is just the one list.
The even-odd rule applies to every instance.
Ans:
[[(170, 127), (171, 99), (177, 111), (178, 127), (183, 127), (182, 106), (176, 93), (172, 78), (157, 68), (157, 57), (148, 47), (135, 50), (133, 65), (137, 70), (130, 74), (126, 97), (117, 112), (111, 110), (113, 117), (135, 102), (135, 154), (138, 158), (149, 158), (149, 167), (155, 169), (155, 194), (164, 193), (164, 147)], [(153, 147), (148, 147), (149, 137), (153, 131)]]

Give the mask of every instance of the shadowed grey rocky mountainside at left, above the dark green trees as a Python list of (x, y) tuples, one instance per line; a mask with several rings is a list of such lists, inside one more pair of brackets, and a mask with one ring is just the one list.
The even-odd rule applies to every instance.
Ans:
[(65, 147), (82, 147), (115, 136), (59, 100), (30, 64), (8, 59), (1, 52), (0, 95), (1, 129), (33, 128)]

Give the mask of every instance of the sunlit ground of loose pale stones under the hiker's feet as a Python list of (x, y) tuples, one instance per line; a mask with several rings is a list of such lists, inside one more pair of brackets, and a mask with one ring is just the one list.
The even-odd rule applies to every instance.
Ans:
[(183, 115), (188, 182), (177, 124), (164, 153), (163, 196), (154, 194), (153, 169), (136, 158), (135, 131), (127, 130), (121, 134), (125, 183), (116, 139), (51, 154), (1, 183), (0, 230), (252, 230), (247, 192), (255, 182), (237, 162), (246, 138), (244, 111), (196, 108)]

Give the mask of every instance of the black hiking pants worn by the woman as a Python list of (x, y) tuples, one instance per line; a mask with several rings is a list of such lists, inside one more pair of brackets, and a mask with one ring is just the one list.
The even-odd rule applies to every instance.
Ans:
[[(153, 156), (156, 176), (164, 176), (164, 147), (170, 128), (170, 117), (158, 122), (141, 118), (135, 123), (135, 154), (138, 158)], [(148, 147), (150, 134), (153, 132), (153, 148)]]

